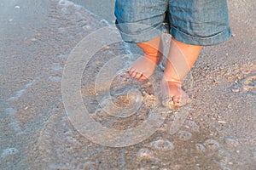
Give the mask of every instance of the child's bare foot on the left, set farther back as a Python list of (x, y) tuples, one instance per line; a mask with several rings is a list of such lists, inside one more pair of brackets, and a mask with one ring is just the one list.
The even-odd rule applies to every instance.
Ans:
[(147, 80), (154, 73), (154, 69), (160, 64), (161, 57), (139, 57), (128, 69), (131, 77), (139, 81)]

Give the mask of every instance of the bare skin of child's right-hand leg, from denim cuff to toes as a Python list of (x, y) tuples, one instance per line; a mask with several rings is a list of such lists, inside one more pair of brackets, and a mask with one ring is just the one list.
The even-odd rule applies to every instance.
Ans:
[[(166, 69), (162, 78), (162, 94), (172, 106), (186, 105), (189, 99), (182, 89), (186, 77), (201, 52), (201, 46), (178, 42), (172, 38)], [(166, 103), (166, 101), (165, 101)]]

